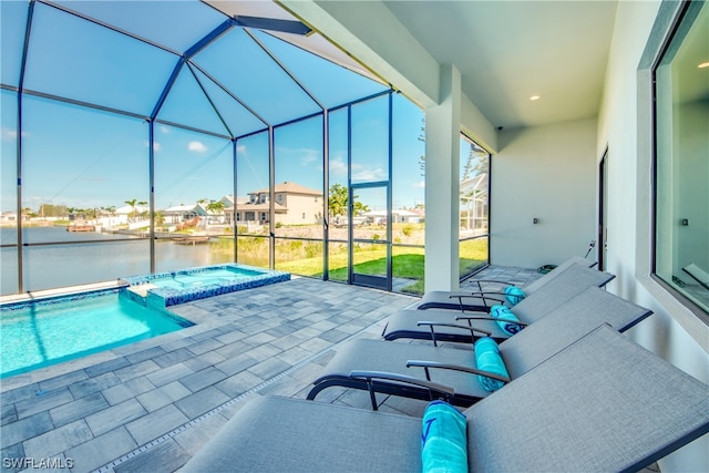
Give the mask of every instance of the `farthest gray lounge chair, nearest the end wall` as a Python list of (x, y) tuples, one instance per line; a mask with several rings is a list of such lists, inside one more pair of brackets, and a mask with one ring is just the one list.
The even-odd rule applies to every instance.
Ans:
[[(547, 273), (540, 279), (523, 286), (521, 289), (526, 295), (534, 294), (535, 290), (557, 277), (571, 265), (580, 265), (590, 268), (595, 266), (596, 263), (586, 258), (582, 258), (580, 256), (574, 256), (573, 258), (567, 259), (563, 264), (558, 265), (556, 268), (554, 268), (552, 271)], [(506, 286), (514, 286), (510, 281), (501, 281), (494, 279), (477, 279), (473, 280), (473, 282), (476, 285), (476, 287), (473, 286), (473, 290), (432, 290), (430, 292), (425, 292), (415, 308), (419, 310), (456, 309), (462, 311), (485, 311), (489, 310), (491, 306), (501, 304), (505, 300), (503, 290)], [(491, 286), (495, 287), (495, 290), (491, 290)]]

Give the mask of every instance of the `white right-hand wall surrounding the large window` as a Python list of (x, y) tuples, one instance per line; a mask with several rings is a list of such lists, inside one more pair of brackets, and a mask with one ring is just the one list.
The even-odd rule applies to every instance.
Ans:
[[(669, 31), (677, 2), (619, 2), (596, 156), (608, 147), (608, 289), (655, 313), (628, 336), (709, 383), (709, 331), (697, 316), (650, 277), (651, 138), (649, 64)], [(668, 472), (709, 471), (709, 435), (660, 460)]]

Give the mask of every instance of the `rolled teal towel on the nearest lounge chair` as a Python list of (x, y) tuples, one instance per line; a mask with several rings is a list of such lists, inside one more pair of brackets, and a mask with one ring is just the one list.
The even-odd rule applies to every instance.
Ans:
[(467, 471), (467, 421), (443, 401), (429, 403), (421, 432), (421, 471), (449, 473)]

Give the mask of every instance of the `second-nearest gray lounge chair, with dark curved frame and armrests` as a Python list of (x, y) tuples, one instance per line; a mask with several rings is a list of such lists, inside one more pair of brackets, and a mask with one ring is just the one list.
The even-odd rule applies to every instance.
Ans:
[[(650, 313), (592, 287), (500, 343), (500, 354), (514, 380), (603, 323), (626, 329)], [(489, 373), (475, 368), (472, 350), (356, 339), (322, 369), (308, 399), (316, 399), (326, 388), (346, 387), (369, 390), (374, 410), (376, 392), (421, 400), (441, 398), (467, 407), (491, 394), (477, 382), (481, 374)]]

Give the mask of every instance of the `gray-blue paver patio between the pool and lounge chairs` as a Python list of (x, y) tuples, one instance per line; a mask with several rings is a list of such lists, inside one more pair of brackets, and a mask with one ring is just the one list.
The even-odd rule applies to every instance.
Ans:
[[(523, 284), (540, 275), (489, 268)], [(415, 297), (294, 278), (171, 308), (196, 326), (2, 381), (2, 470), (172, 472), (255, 395), (305, 398), (340, 342), (378, 338)], [(370, 409), (369, 394), (332, 388), (320, 402)], [(382, 411), (425, 403), (382, 398)]]

